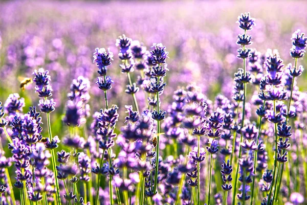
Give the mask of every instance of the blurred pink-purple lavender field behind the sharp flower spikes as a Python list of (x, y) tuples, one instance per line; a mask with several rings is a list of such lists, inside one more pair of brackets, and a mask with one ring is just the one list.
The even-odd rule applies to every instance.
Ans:
[[(83, 75), (91, 81), (91, 113), (104, 106), (95, 84), (95, 48), (110, 48), (114, 61), (108, 75), (114, 80), (109, 102), (124, 109), (132, 104), (123, 94), (126, 75), (119, 68), (115, 41), (125, 34), (150, 50), (162, 42), (169, 51), (169, 72), (162, 107), (178, 86), (196, 82), (212, 100), (217, 93), (231, 97), (233, 74), (242, 66), (236, 58), (237, 16), (250, 12), (256, 26), (249, 32), (261, 53), (278, 49), (284, 64), (294, 63), (289, 50), (292, 33), (307, 32), (307, 1), (9, 1), (0, 2), (0, 101), (11, 93), (26, 99), (26, 108), (38, 104), (34, 86), (25, 92), (20, 79), (35, 69), (50, 71), (57, 110), (52, 115), (58, 133), (70, 83)], [(304, 58), (306, 59), (306, 58)], [(305, 65), (306, 62), (299, 63)], [(138, 73), (133, 75), (136, 81)], [(307, 87), (306, 72), (298, 83)], [(121, 95), (123, 94), (123, 95)], [(138, 93), (140, 102), (144, 94)], [(143, 107), (141, 103), (141, 107)]]

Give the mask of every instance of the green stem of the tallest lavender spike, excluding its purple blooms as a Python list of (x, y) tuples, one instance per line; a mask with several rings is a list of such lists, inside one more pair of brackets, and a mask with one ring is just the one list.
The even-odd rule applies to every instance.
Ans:
[[(246, 35), (246, 30), (244, 32), (244, 35)], [(243, 51), (245, 51), (245, 45), (243, 45)], [(246, 75), (246, 59), (243, 58), (243, 70), (244, 70), (244, 75)], [(243, 96), (243, 108), (242, 108), (242, 126), (244, 127), (244, 119), (245, 119), (245, 103), (246, 103), (246, 83), (243, 83), (244, 86), (244, 96)], [(241, 134), (240, 136), (240, 144), (243, 141), (243, 136)], [(242, 155), (242, 147), (239, 146), (239, 157), (240, 158)], [(232, 199), (232, 205), (235, 204), (235, 196), (236, 196), (236, 188), (237, 188), (237, 183), (238, 183), (238, 176), (239, 176), (239, 163), (237, 163), (236, 167), (236, 173), (235, 173), (235, 180), (234, 180), (234, 189), (233, 189), (233, 199)]]

